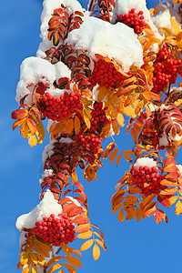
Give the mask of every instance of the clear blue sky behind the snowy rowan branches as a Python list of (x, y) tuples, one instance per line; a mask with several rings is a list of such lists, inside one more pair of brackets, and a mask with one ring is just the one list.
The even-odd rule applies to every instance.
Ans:
[[(82, 3), (85, 3), (83, 1)], [(150, 1), (154, 5), (156, 1)], [(43, 145), (29, 147), (27, 140), (18, 129), (13, 132), (11, 112), (17, 108), (15, 87), (19, 79), (21, 62), (28, 56), (35, 56), (40, 43), (39, 27), (42, 1), (4, 1), (0, 10), (1, 25), (1, 66), (0, 66), (0, 272), (15, 273), (19, 252), (20, 233), (15, 229), (16, 217), (32, 210), (39, 202), (38, 183), (42, 167), (42, 152), (48, 144), (48, 136)], [(125, 128), (116, 137), (122, 149), (133, 145)], [(104, 143), (106, 146), (107, 142)], [(178, 156), (180, 162), (181, 152)], [(83, 268), (80, 273), (161, 273), (180, 272), (182, 237), (181, 217), (174, 213), (174, 207), (167, 209), (169, 223), (157, 225), (153, 217), (139, 223), (136, 220), (120, 224), (111, 214), (111, 196), (116, 182), (129, 165), (122, 160), (119, 167), (105, 162), (98, 172), (98, 181), (84, 187), (88, 196), (89, 215), (93, 223), (105, 233), (107, 252), (102, 251), (98, 261), (94, 261), (91, 251), (83, 253)], [(80, 181), (83, 178), (80, 177)], [(77, 240), (76, 247), (82, 240)], [(74, 246), (73, 246), (74, 247)]]

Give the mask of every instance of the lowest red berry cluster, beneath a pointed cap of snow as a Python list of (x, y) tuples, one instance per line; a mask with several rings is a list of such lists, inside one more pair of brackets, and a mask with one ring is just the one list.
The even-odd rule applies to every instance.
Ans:
[(66, 214), (59, 214), (57, 217), (51, 214), (50, 217), (44, 217), (43, 221), (35, 223), (33, 231), (56, 247), (59, 247), (61, 243), (67, 244), (76, 239), (75, 226)]

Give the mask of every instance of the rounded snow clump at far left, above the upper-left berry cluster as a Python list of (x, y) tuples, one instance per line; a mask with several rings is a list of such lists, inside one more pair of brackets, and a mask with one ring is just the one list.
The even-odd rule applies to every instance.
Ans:
[(20, 81), (17, 84), (15, 100), (17, 102), (26, 94), (31, 94), (27, 86), (37, 84), (40, 80), (53, 86), (56, 79), (56, 66), (48, 61), (31, 56), (25, 58), (20, 67)]

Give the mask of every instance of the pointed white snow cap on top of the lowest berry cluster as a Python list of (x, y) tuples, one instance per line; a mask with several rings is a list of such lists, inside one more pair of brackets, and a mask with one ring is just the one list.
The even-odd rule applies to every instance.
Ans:
[[(52, 192), (47, 190), (44, 198), (34, 210), (17, 218), (15, 226), (19, 231), (24, 228), (33, 228), (35, 222), (41, 221), (43, 217), (50, 217), (51, 214), (58, 216), (60, 213), (62, 213), (62, 206), (58, 204)], [(24, 241), (23, 238), (22, 240)]]

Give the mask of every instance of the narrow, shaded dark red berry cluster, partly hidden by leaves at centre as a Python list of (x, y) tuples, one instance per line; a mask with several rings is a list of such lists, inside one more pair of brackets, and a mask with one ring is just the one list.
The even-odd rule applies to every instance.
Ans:
[(94, 110), (92, 111), (92, 118), (90, 119), (90, 132), (100, 132), (103, 126), (111, 122), (106, 118), (106, 109), (107, 107), (103, 109), (102, 102), (95, 103)]

